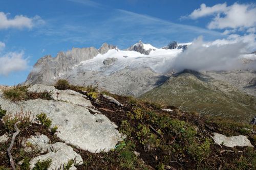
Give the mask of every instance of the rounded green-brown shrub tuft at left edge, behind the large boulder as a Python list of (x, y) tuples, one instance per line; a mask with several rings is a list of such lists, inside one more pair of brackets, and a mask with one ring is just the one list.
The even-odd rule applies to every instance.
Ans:
[(26, 99), (26, 93), (20, 88), (11, 88), (4, 90), (4, 98), (13, 102)]

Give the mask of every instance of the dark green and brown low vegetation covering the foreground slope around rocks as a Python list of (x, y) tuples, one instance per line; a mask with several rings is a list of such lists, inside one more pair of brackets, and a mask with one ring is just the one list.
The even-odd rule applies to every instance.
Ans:
[[(69, 83), (68, 83), (69, 84)], [(173, 106), (144, 102), (132, 97), (110, 94), (124, 106), (117, 106), (105, 99), (97, 87), (69, 85), (69, 89), (86, 94), (92, 104), (102, 114), (118, 126), (118, 131), (126, 138), (117, 143), (110, 152), (90, 153), (70, 145), (83, 159), (77, 169), (255, 169), (256, 151), (249, 147), (222, 148), (211, 138), (212, 132), (232, 135), (246, 135), (253, 145), (256, 144), (256, 126), (236, 123), (232, 120), (200, 117), (194, 112), (184, 112)], [(172, 112), (164, 111), (172, 109)], [(28, 169), (29, 161), (40, 155), (38, 152), (26, 153), (20, 144), (22, 137), (45, 134), (50, 143), (60, 141), (55, 133), (58, 127), (51, 127), (51, 119), (45, 113), (36, 115), (41, 125), (32, 124), (30, 112), (20, 112), (14, 116), (6, 115), (0, 107), (4, 125), (0, 122), (1, 134), (14, 132), (13, 125), (18, 125), (20, 134), (14, 143), (14, 161), (23, 160), (20, 169)], [(249, 130), (248, 130), (249, 129)], [(0, 153), (6, 152), (9, 141), (0, 146)], [(68, 170), (74, 160), (61, 165)], [(51, 160), (40, 160), (33, 169), (47, 169)], [(8, 169), (9, 158), (0, 154), (0, 169)]]

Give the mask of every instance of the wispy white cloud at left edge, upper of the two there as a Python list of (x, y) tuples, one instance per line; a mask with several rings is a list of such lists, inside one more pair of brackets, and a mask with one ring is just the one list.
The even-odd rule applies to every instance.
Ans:
[(16, 15), (14, 18), (8, 18), (8, 13), (0, 12), (0, 29), (8, 29), (8, 28), (29, 28), (36, 25), (41, 25), (45, 23), (40, 16), (36, 15), (32, 18), (23, 15)]

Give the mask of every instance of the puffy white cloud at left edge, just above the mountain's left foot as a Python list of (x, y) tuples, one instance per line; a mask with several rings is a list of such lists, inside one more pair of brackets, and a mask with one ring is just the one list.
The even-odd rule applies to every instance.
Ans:
[(22, 71), (28, 68), (28, 60), (24, 52), (10, 52), (0, 57), (0, 75), (7, 76), (13, 71)]

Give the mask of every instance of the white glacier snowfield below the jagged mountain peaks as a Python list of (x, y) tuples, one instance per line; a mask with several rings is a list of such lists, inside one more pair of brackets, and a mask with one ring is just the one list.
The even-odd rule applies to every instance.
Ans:
[[(135, 51), (109, 50), (103, 55), (98, 54), (93, 59), (80, 62), (76, 67), (79, 67), (82, 71), (101, 71), (105, 75), (110, 75), (125, 67), (150, 67), (154, 71), (162, 73), (163, 68), (166, 68), (166, 62), (173, 61), (180, 53), (182, 53), (182, 49), (165, 50), (156, 48), (149, 55)], [(113, 65), (105, 66), (103, 61), (107, 58), (117, 58), (118, 61)]]

